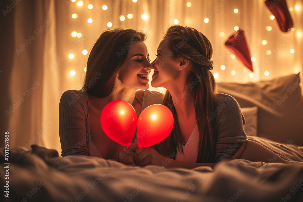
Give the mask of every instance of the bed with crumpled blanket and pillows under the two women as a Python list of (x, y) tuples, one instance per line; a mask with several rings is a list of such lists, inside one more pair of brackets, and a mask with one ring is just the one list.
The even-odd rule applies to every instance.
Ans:
[[(219, 162), (214, 168), (166, 168), (165, 164), (139, 167), (84, 155), (59, 157), (56, 150), (32, 145), (30, 151), (23, 151), (18, 147), (10, 148), (7, 174), (4, 147), (1, 147), (0, 200), (301, 202), (303, 147), (299, 145), (303, 145), (303, 99), (300, 86), (291, 94), (287, 92), (288, 86), (293, 86), (297, 78), (298, 74), (272, 81), (219, 85), (219, 91), (234, 96), (241, 108), (255, 107), (243, 113), (245, 120), (251, 120), (247, 121), (247, 124), (254, 128), (254, 133), (250, 133), (248, 137), (263, 141), (263, 144), (271, 147), (272, 142), (265, 138), (280, 140), (280, 143), (275, 144), (277, 153), (288, 158), (291, 164), (271, 163), (270, 160), (251, 162), (234, 159)], [(236, 94), (235, 88), (242, 91)], [(252, 91), (255, 99), (251, 96)], [(269, 107), (285, 93), (288, 93), (288, 97), (271, 113)], [(285, 114), (283, 110), (287, 109), (287, 106), (284, 106), (287, 104), (292, 105), (288, 111), (293, 111)], [(280, 117), (282, 122), (285, 121), (280, 113), (296, 122), (277, 122), (279, 119), (275, 119), (275, 116)], [(268, 116), (276, 122), (270, 125)], [(263, 124), (267, 124), (272, 130), (268, 130)], [(9, 179), (5, 179), (5, 175), (8, 175)], [(5, 197), (6, 181), (9, 181), (9, 198)]]

